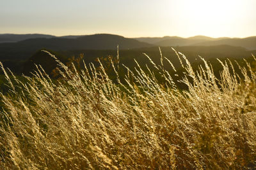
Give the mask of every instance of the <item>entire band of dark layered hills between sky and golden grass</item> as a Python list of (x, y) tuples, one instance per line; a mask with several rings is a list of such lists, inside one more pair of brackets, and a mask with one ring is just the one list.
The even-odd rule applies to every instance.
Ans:
[(48, 68), (47, 57), (45, 58), (45, 53), (40, 52), (42, 49), (55, 53), (64, 62), (68, 60), (68, 57), (79, 56), (81, 53), (84, 53), (87, 62), (93, 62), (97, 57), (115, 56), (116, 46), (119, 45), (122, 62), (131, 67), (134, 66), (132, 65), (134, 59), (141, 63), (145, 62), (144, 52), (157, 61), (159, 59), (158, 46), (161, 46), (164, 56), (172, 59), (173, 64), (179, 64), (179, 60), (173, 59), (175, 53), (170, 46), (174, 46), (177, 51), (188, 56), (191, 62), (195, 62), (198, 55), (207, 59), (216, 57), (241, 59), (251, 56), (252, 53), (255, 54), (256, 50), (256, 37), (210, 38), (195, 36), (181, 38), (164, 36), (162, 38), (125, 38), (113, 34), (61, 37), (45, 34), (0, 34), (0, 39), (8, 39), (9, 41), (0, 43), (0, 61), (3, 62), (4, 66), (19, 74), (25, 70), (25, 72), (32, 70), (34, 64), (29, 62), (31, 59), (33, 61), (45, 61), (46, 63), (39, 64), (45, 64), (45, 67)]

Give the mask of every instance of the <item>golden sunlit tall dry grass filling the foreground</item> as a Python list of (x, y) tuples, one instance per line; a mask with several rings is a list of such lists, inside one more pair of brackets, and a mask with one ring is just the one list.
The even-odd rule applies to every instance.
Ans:
[(92, 64), (77, 70), (60, 62), (54, 81), (40, 67), (26, 83), (6, 73), (0, 168), (255, 168), (255, 71), (248, 64), (236, 74), (220, 61), (216, 78), (207, 62), (195, 71), (177, 55), (188, 90), (163, 69), (163, 57), (152, 62), (161, 81), (140, 66), (120, 80), (115, 64), (115, 83)]

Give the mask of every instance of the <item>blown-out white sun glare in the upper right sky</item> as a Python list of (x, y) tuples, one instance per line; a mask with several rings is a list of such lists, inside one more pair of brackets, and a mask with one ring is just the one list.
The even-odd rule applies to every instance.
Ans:
[[(179, 5), (179, 6), (178, 6)], [(241, 27), (246, 17), (246, 3), (232, 0), (195, 0), (179, 1), (179, 22), (186, 23), (186, 30), (191, 34), (207, 36), (229, 35), (232, 27)]]

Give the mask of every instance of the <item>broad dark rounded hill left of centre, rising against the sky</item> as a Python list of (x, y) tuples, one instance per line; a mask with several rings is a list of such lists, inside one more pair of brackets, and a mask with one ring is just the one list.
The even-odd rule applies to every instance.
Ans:
[(0, 43), (0, 60), (28, 59), (42, 48), (54, 51), (65, 50), (116, 50), (153, 46), (132, 38), (112, 34), (94, 34), (77, 38), (33, 38), (17, 43)]

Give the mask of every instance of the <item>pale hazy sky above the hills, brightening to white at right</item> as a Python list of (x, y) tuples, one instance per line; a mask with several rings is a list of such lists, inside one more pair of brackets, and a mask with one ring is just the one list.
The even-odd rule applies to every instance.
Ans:
[(256, 36), (256, 0), (1, 0), (0, 34)]

